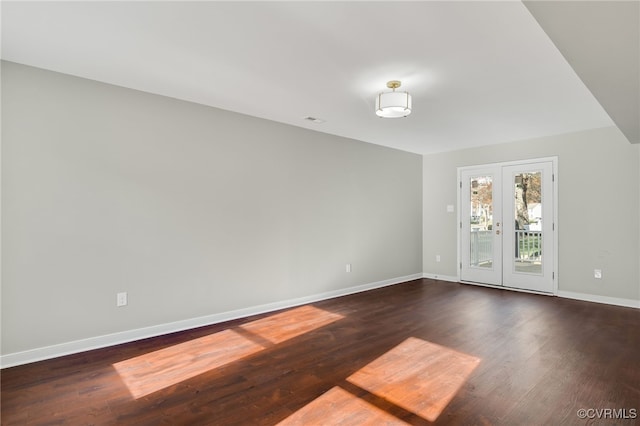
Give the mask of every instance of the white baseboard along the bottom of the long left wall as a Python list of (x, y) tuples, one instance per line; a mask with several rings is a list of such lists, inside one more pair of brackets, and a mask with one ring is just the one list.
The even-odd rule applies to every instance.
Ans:
[(203, 327), (206, 325), (217, 324), (238, 318), (244, 318), (251, 315), (273, 312), (280, 309), (292, 308), (294, 306), (305, 305), (307, 303), (319, 302), (321, 300), (333, 299), (335, 297), (346, 296), (349, 294), (360, 293), (367, 290), (373, 290), (380, 287), (386, 287), (394, 284), (400, 284), (422, 278), (422, 274), (406, 275), (404, 277), (391, 278), (388, 280), (377, 281), (369, 284), (363, 284), (355, 287), (348, 287), (339, 290), (332, 290), (311, 296), (298, 297), (264, 305), (252, 306), (249, 308), (236, 309), (233, 311), (222, 312), (219, 314), (207, 315), (198, 318), (191, 318), (181, 321), (175, 321), (167, 324), (159, 324), (151, 327), (139, 328), (135, 330), (127, 330), (103, 336), (90, 337), (88, 339), (75, 340), (72, 342), (60, 343), (57, 345), (46, 346), (42, 348), (30, 349), (23, 352), (15, 352), (0, 356), (0, 368), (15, 367), (22, 364), (43, 361), (46, 359), (57, 358), (65, 355), (71, 355), (79, 352), (100, 349), (108, 346), (119, 345), (122, 343), (133, 342), (136, 340), (156, 337), (163, 334), (175, 333), (178, 331), (189, 330), (192, 328)]

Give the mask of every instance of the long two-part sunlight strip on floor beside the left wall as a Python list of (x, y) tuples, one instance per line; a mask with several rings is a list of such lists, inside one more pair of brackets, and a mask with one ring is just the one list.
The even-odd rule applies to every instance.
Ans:
[(257, 354), (343, 318), (301, 306), (113, 364), (131, 395), (141, 398)]

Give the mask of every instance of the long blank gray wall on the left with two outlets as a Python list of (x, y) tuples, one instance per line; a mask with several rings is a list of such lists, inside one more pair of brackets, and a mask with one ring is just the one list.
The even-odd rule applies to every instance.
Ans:
[(3, 354), (422, 271), (419, 155), (7, 62), (2, 124)]

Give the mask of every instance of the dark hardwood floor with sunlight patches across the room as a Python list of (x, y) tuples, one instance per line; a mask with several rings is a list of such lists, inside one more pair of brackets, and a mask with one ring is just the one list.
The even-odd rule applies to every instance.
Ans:
[(633, 425), (640, 310), (424, 279), (1, 381), (2, 425)]

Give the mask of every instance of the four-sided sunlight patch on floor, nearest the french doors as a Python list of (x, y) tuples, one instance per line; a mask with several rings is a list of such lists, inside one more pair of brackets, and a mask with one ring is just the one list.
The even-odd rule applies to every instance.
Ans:
[(347, 381), (435, 421), (479, 363), (479, 358), (410, 337)]

